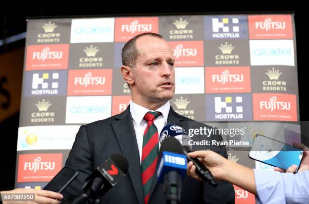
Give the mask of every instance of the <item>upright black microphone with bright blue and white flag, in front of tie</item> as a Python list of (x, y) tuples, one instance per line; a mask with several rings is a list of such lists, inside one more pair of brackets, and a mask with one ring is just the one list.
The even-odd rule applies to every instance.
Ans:
[(161, 145), (157, 176), (164, 183), (164, 194), (169, 204), (180, 203), (182, 178), (186, 175), (187, 160), (175, 138), (167, 138)]

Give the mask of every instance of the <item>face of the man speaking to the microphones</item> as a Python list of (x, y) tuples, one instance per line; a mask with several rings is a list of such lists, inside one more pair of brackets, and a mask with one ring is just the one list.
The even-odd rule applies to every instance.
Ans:
[[(161, 38), (142, 36), (136, 41), (139, 56), (132, 69), (132, 99), (165, 103), (174, 96), (174, 57), (169, 44)], [(134, 95), (133, 95), (134, 94)]]

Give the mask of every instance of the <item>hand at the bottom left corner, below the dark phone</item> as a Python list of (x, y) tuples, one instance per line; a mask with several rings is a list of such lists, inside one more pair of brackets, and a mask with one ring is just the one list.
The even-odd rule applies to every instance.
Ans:
[(3, 201), (3, 204), (21, 204), (21, 203), (50, 203), (58, 204), (61, 203), (59, 200), (62, 199), (63, 195), (49, 190), (36, 190), (36, 189), (25, 189), (16, 188), (8, 191), (1, 191), (1, 193), (34, 193), (34, 200), (32, 201)]

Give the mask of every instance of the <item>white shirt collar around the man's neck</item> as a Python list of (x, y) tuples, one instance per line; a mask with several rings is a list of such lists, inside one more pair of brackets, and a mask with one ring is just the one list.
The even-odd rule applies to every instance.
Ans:
[[(145, 114), (150, 111), (149, 109), (140, 106), (136, 103), (134, 103), (132, 100), (130, 101), (130, 112), (132, 115), (133, 120), (137, 123), (140, 124), (141, 121), (143, 120)], [(165, 124), (167, 124), (167, 118), (169, 116), (170, 112), (170, 101), (166, 102), (163, 106), (158, 108), (156, 111), (159, 111), (162, 113), (162, 116), (164, 118)], [(161, 116), (159, 116), (161, 117)]]

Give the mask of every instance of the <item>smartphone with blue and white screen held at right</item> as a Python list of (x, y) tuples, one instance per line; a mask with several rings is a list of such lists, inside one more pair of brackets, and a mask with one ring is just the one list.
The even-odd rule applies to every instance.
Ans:
[(296, 164), (297, 171), (302, 156), (303, 150), (261, 134), (255, 135), (249, 152), (249, 158), (284, 170)]

